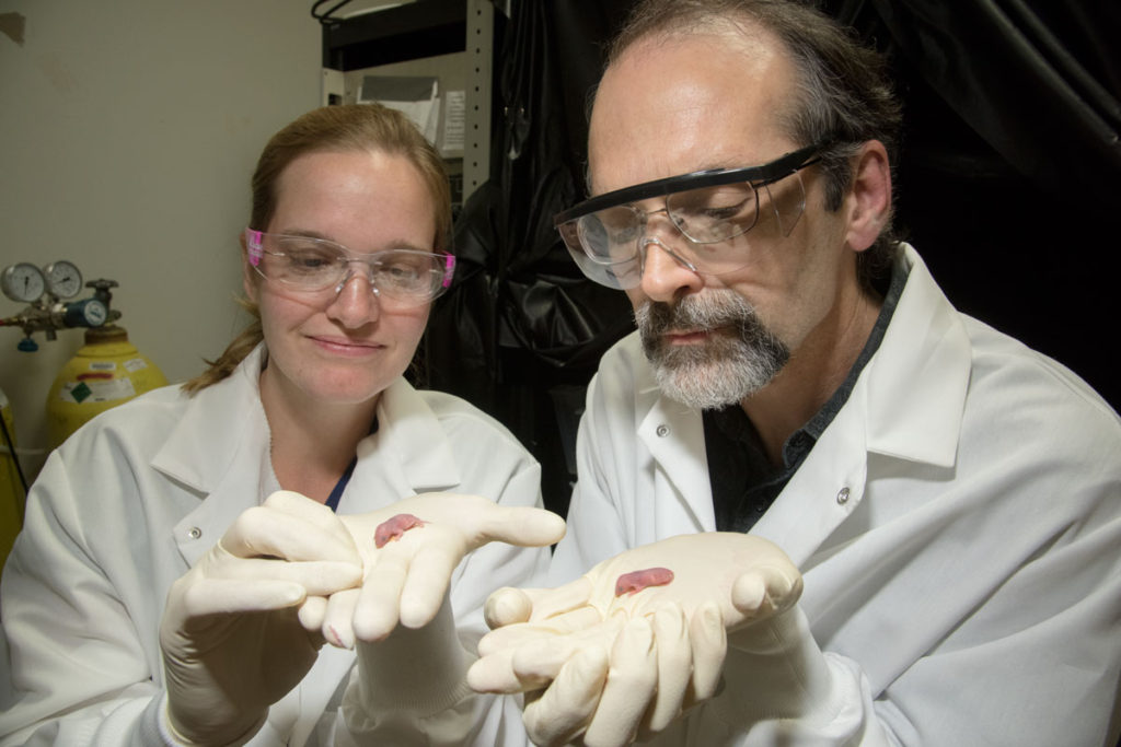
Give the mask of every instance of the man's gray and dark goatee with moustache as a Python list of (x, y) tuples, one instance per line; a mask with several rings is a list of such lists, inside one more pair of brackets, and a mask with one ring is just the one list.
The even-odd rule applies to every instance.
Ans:
[[(790, 349), (763, 327), (754, 308), (732, 290), (686, 296), (676, 305), (647, 301), (634, 311), (642, 351), (663, 393), (691, 408), (716, 410), (766, 386), (790, 360)], [(668, 330), (714, 330), (697, 345), (669, 345)]]

